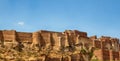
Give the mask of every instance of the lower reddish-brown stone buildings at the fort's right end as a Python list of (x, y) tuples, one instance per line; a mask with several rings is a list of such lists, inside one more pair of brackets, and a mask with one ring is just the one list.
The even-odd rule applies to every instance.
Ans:
[(120, 60), (120, 44), (119, 39), (108, 36), (90, 37), (93, 46), (96, 48), (94, 55), (100, 61), (119, 61)]

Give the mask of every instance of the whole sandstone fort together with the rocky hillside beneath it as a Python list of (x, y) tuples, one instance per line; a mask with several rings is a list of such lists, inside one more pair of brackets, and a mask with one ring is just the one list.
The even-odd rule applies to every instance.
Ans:
[(6, 61), (120, 61), (118, 38), (88, 37), (78, 30), (0, 30), (0, 50), (0, 59)]

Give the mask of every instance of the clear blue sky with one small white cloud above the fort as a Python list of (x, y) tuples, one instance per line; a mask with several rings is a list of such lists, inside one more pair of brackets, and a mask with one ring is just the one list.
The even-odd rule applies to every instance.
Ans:
[(77, 29), (120, 37), (120, 0), (0, 0), (0, 29)]

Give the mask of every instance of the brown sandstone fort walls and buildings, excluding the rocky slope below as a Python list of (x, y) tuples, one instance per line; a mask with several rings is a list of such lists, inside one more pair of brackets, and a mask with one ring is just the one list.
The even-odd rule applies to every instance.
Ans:
[[(94, 56), (100, 61), (120, 60), (120, 44), (119, 39), (102, 36), (88, 37), (86, 32), (78, 30), (65, 30), (64, 32), (53, 32), (40, 30), (36, 32), (17, 32), (15, 30), (0, 30), (0, 45), (5, 47), (13, 47), (22, 43), (24, 47), (45, 49), (52, 47), (53, 50), (59, 51), (62, 48), (76, 47), (85, 45), (87, 47), (95, 47)], [(84, 61), (81, 54), (75, 54), (63, 58), (68, 61)], [(77, 58), (76, 58), (77, 57)], [(49, 58), (51, 59), (51, 58)], [(55, 58), (59, 59), (59, 58)], [(52, 60), (52, 59), (51, 59)], [(60, 61), (61, 59), (59, 59)]]

